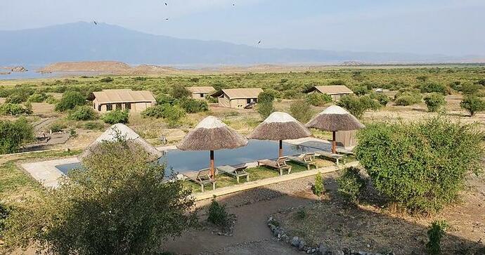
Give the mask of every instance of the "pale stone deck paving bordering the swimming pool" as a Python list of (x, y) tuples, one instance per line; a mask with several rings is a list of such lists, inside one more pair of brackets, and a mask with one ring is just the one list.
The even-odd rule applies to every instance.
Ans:
[[(330, 145), (330, 143), (327, 140), (321, 140), (318, 138), (301, 138), (301, 139), (296, 139), (296, 140), (285, 140), (285, 143), (290, 143), (293, 145), (305, 145), (305, 143), (323, 143)], [(168, 146), (162, 146), (162, 147), (157, 147), (157, 150), (174, 150), (176, 149), (175, 145), (168, 145)], [(48, 161), (42, 161), (42, 162), (32, 162), (32, 163), (24, 163), (20, 164), (20, 166), (27, 171), (35, 180), (39, 181), (42, 185), (44, 185), (46, 188), (57, 188), (59, 183), (58, 179), (60, 176), (63, 176), (63, 172), (61, 172), (59, 169), (56, 168), (56, 166), (60, 164), (73, 164), (73, 163), (79, 163), (79, 159), (77, 157), (69, 157), (69, 158), (64, 158), (64, 159), (54, 159), (54, 160), (48, 160)], [(350, 165), (351, 163), (347, 164)], [(256, 162), (250, 162), (247, 163), (248, 167), (253, 167), (256, 165)], [(330, 168), (329, 168), (330, 167)], [(250, 183), (243, 183), (240, 185), (235, 185), (227, 188), (220, 188), (218, 190), (215, 190), (214, 194), (212, 192), (204, 192), (201, 195), (195, 195), (196, 200), (204, 200), (207, 195), (206, 194), (211, 194), (212, 195), (220, 195), (221, 193), (225, 192), (224, 194), (229, 194), (232, 192), (237, 192), (240, 190), (247, 190), (249, 188), (255, 188), (259, 187), (261, 185), (268, 185), (271, 183), (278, 183), (280, 181), (289, 181), (294, 178), (303, 178), (306, 176), (311, 176), (316, 174), (318, 170), (320, 171), (337, 171), (337, 167), (325, 167), (323, 169), (316, 169), (316, 170), (310, 170), (310, 171), (303, 171), (300, 173), (295, 173), (295, 174), (290, 174), (287, 176), (278, 176), (278, 177), (273, 177), (273, 178), (268, 178), (264, 180), (259, 180), (259, 181), (252, 181)], [(295, 175), (295, 176), (294, 176)], [(280, 180), (280, 181), (278, 181)], [(263, 184), (260, 184), (263, 183)], [(238, 187), (236, 187), (238, 186)], [(240, 187), (239, 187), (240, 186)], [(240, 189), (240, 190), (238, 190)], [(219, 191), (221, 190), (221, 191)], [(224, 191), (226, 190), (226, 191)], [(233, 190), (233, 191), (232, 191)], [(199, 198), (202, 197), (202, 198)]]

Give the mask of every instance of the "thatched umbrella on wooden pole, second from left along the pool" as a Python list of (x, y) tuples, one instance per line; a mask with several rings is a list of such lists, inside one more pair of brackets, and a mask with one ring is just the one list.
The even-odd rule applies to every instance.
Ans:
[(214, 176), (214, 150), (235, 149), (247, 145), (247, 139), (214, 116), (202, 119), (179, 144), (179, 150), (209, 150), (210, 171)]

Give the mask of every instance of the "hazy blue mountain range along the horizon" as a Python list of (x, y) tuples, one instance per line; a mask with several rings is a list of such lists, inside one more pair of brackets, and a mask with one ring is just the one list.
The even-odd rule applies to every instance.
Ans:
[(480, 58), (483, 59), (480, 56), (257, 48), (224, 41), (178, 39), (88, 22), (0, 31), (0, 65), (97, 60), (152, 65), (335, 64), (346, 61), (444, 63)]

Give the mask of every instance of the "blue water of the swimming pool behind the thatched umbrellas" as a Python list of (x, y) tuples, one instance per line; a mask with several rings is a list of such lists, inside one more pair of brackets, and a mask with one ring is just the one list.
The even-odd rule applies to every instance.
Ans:
[[(328, 147), (325, 144), (311, 144), (310, 146), (283, 143), (283, 155), (299, 155), (304, 152), (325, 150)], [(214, 152), (216, 166), (235, 165), (276, 157), (278, 157), (278, 142), (271, 140), (250, 140), (245, 147)], [(159, 162), (165, 164), (167, 170), (173, 169), (175, 172), (196, 171), (209, 167), (209, 151), (167, 150), (164, 156), (159, 159)], [(81, 164), (61, 164), (56, 167), (66, 174), (71, 169), (81, 167)], [(170, 174), (170, 171), (166, 172)]]

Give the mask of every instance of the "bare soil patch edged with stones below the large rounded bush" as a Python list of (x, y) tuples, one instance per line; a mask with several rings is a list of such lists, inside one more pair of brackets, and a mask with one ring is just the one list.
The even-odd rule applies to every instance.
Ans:
[(335, 178), (325, 177), (325, 196), (303, 209), (304, 218), (302, 209), (273, 215), (289, 236), (303, 237), (316, 246), (323, 243), (328, 249), (425, 254), (427, 228), (439, 219), (451, 225), (442, 240), (443, 254), (485, 254), (485, 183), (481, 178), (470, 179), (461, 204), (423, 217), (392, 214), (378, 205), (349, 205), (337, 195)]

